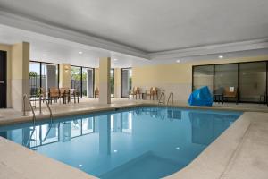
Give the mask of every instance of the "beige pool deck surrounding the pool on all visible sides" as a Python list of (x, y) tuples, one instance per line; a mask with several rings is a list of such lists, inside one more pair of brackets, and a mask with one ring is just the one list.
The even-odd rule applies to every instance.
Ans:
[[(54, 116), (76, 115), (111, 110), (121, 107), (157, 104), (152, 101), (113, 99), (111, 105), (99, 105), (95, 99), (82, 100), (80, 104), (52, 105)], [(175, 106), (188, 107), (185, 102)], [(48, 117), (46, 107), (44, 115)], [(268, 178), (268, 107), (257, 104), (214, 104), (209, 108), (247, 111), (222, 135), (209, 145), (192, 163), (167, 178), (182, 179), (251, 179)], [(38, 114), (38, 109), (37, 109)], [(2, 115), (2, 116), (1, 116)], [(0, 125), (27, 122), (31, 116), (13, 109), (0, 110)], [(44, 167), (46, 166), (46, 167)], [(45, 174), (45, 175), (44, 175)], [(4, 179), (48, 179), (48, 178), (94, 178), (52, 158), (46, 158), (13, 141), (0, 138), (0, 178)]]

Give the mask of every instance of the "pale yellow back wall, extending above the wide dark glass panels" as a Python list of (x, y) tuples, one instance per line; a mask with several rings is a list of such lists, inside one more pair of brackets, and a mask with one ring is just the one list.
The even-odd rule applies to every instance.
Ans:
[(143, 91), (156, 86), (168, 95), (174, 92), (174, 100), (188, 100), (192, 87), (192, 66), (200, 64), (228, 64), (236, 62), (263, 61), (267, 56), (244, 57), (236, 59), (216, 59), (180, 64), (158, 64), (132, 68), (132, 86)]

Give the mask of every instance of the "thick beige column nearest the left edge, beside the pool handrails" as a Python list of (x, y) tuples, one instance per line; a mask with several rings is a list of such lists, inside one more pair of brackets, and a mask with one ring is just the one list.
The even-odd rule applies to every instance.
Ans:
[(12, 46), (12, 107), (22, 110), (23, 94), (29, 95), (29, 43)]

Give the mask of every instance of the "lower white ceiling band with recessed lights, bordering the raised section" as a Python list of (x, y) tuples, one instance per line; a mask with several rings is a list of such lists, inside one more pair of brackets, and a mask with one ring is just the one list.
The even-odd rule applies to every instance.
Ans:
[[(176, 64), (177, 60), (180, 60), (180, 63), (197, 60), (214, 60), (219, 55), (224, 56), (221, 60), (235, 57), (268, 55), (268, 48), (265, 48), (223, 54), (195, 55), (176, 59), (147, 60), (0, 24), (0, 44), (12, 45), (21, 41), (30, 43), (30, 60), (56, 64), (70, 63), (72, 65), (87, 67), (98, 67), (98, 59), (104, 56), (112, 58), (113, 68), (127, 68), (150, 64)], [(80, 55), (79, 52), (82, 52), (82, 54)]]

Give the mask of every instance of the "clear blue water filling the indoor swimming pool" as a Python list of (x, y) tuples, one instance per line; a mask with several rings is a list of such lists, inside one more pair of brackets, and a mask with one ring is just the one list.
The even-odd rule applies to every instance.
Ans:
[(135, 107), (0, 127), (0, 135), (100, 178), (161, 178), (187, 166), (239, 112)]

